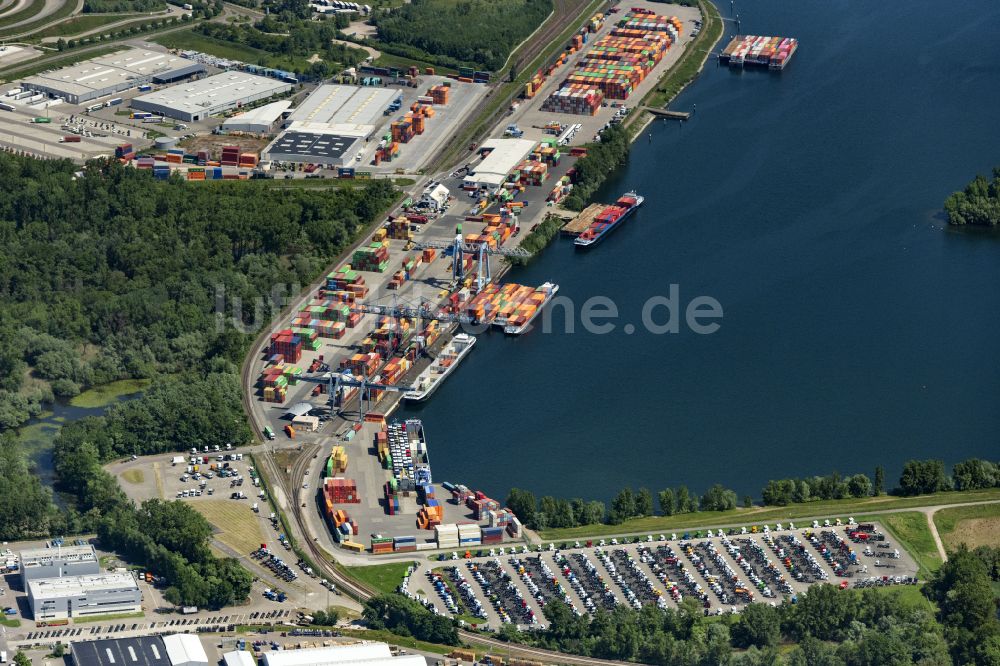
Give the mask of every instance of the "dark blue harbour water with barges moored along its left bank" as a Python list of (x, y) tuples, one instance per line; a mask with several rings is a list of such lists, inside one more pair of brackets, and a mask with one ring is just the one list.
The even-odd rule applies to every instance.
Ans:
[(1000, 164), (1000, 5), (737, 5), (743, 32), (799, 39), (789, 68), (710, 61), (673, 104), (693, 120), (653, 126), (597, 197), (637, 189), (633, 219), (507, 276), (609, 296), (621, 324), (676, 283), (722, 304), (721, 329), (481, 336), (395, 415), (424, 420), (435, 479), (759, 496), (782, 476), (996, 458), (1000, 236), (946, 228), (941, 204)]

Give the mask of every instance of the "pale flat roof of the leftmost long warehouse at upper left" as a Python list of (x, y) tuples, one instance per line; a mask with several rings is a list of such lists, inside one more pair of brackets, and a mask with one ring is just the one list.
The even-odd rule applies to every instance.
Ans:
[(129, 48), (24, 79), (26, 84), (53, 88), (70, 95), (101, 91), (134, 79), (150, 79), (182, 69), (190, 62), (170, 53)]

